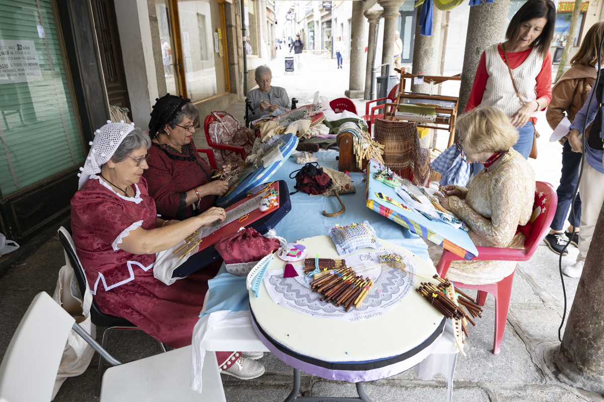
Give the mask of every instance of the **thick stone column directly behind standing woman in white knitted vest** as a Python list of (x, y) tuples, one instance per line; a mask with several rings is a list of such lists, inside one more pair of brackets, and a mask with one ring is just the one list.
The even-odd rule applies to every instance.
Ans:
[(458, 113), (463, 113), (466, 108), (467, 97), (472, 90), (480, 55), (489, 45), (505, 40), (509, 7), (510, 0), (497, 0), (489, 4), (483, 3), (470, 7), (457, 105)]

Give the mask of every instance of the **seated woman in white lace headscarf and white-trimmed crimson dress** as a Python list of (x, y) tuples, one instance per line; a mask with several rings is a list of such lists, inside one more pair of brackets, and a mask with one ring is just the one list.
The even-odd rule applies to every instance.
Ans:
[[(168, 286), (153, 276), (155, 253), (223, 221), (225, 211), (210, 207), (183, 221), (158, 218), (143, 177), (150, 139), (133, 125), (108, 122), (91, 145), (71, 200), (71, 228), (94, 299), (102, 312), (126, 318), (170, 347), (190, 345), (216, 269)], [(216, 355), (225, 374), (247, 379), (264, 372), (238, 352)]]

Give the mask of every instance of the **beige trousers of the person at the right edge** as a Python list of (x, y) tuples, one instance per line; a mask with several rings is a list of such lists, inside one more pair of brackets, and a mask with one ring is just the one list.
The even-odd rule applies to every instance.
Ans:
[(583, 167), (579, 183), (581, 194), (581, 230), (579, 231), (579, 256), (577, 261), (585, 261), (594, 235), (596, 221), (604, 203), (604, 174), (592, 168), (589, 163)]

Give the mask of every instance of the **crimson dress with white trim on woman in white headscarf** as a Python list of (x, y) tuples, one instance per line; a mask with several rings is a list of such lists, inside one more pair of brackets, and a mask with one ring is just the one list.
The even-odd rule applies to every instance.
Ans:
[(130, 230), (155, 228), (147, 181), (141, 178), (133, 189), (136, 196), (126, 197), (91, 175), (76, 192), (71, 228), (77, 255), (101, 311), (128, 319), (170, 347), (190, 345), (208, 280), (219, 267), (206, 267), (167, 286), (153, 277), (155, 254), (120, 250)]

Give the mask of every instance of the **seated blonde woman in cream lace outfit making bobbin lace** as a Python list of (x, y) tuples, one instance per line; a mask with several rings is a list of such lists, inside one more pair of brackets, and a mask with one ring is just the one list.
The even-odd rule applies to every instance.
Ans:
[[(443, 187), (445, 198), (440, 203), (454, 212), (470, 229), (477, 246), (522, 248), (525, 235), (516, 233), (518, 225), (530, 219), (535, 199), (535, 172), (512, 148), (518, 130), (510, 119), (494, 107), (478, 107), (457, 121), (461, 154), (467, 163), (481, 163), (468, 187), (449, 184)], [(428, 254), (434, 264), (443, 248), (428, 243)], [(454, 261), (448, 271), (453, 281), (465, 284), (495, 283), (510, 275), (516, 262)]]

